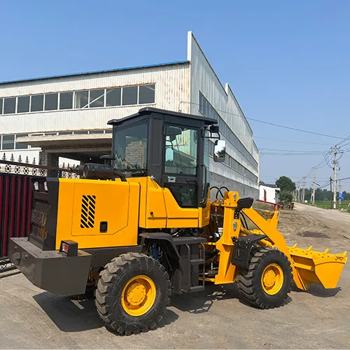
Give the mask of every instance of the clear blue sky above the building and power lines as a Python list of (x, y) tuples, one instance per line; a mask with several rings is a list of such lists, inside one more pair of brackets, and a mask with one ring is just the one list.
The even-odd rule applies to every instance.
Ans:
[[(350, 134), (347, 0), (2, 1), (0, 80), (183, 60), (188, 30), (247, 117)], [(250, 123), (262, 152), (328, 151), (340, 141)], [(262, 155), (261, 179), (298, 181), (322, 158)], [(350, 176), (350, 152), (340, 167)], [(331, 173), (318, 169), (316, 182)]]

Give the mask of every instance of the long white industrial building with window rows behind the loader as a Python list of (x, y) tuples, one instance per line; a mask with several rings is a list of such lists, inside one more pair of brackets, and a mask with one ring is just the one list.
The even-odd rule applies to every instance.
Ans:
[(99, 162), (111, 153), (107, 122), (145, 106), (218, 120), (227, 141), (224, 163), (212, 158), (211, 185), (259, 195), (253, 131), (228, 83), (216, 76), (193, 33), (181, 62), (73, 73), (0, 83), (0, 152), (41, 164)]

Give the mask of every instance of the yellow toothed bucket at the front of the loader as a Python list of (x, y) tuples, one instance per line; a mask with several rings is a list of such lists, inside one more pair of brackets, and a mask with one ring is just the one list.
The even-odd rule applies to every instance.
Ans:
[(346, 263), (346, 251), (342, 254), (330, 254), (329, 249), (313, 251), (312, 246), (308, 249), (288, 247), (290, 256), (294, 262), (305, 289), (311, 283), (321, 284), (324, 288), (336, 288), (340, 274)]

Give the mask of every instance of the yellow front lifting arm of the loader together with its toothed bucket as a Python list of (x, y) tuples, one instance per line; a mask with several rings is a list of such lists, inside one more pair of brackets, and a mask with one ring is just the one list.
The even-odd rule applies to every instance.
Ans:
[[(220, 264), (218, 274), (215, 277), (216, 284), (234, 282), (239, 274), (239, 269), (245, 268), (244, 265), (240, 264), (241, 261), (235, 260), (237, 258), (235, 249), (239, 247), (239, 240), (246, 237), (243, 244), (246, 248), (240, 248), (241, 251), (244, 251), (246, 257), (250, 255), (253, 246), (256, 246), (256, 244), (278, 249), (286, 255), (297, 288), (307, 290), (311, 283), (321, 284), (325, 288), (335, 288), (337, 286), (347, 260), (346, 251), (340, 254), (331, 254), (328, 248), (320, 252), (313, 251), (312, 246), (307, 249), (297, 248), (297, 244), (288, 246), (286, 239), (277, 230), (280, 217), (279, 210), (266, 211), (253, 209), (252, 207), (240, 208), (239, 200), (237, 192), (226, 192), (223, 199), (212, 203), (214, 208), (220, 207), (223, 210), (223, 234), (218, 241), (208, 243), (215, 245), (220, 251)], [(251, 199), (251, 201), (253, 200)], [(259, 211), (269, 214), (269, 217), (265, 219), (259, 214)], [(242, 213), (258, 227), (258, 230), (247, 230), (241, 225)]]

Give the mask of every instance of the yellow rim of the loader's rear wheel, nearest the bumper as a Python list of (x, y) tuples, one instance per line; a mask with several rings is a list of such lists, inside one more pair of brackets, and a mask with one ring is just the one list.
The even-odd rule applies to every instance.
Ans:
[(131, 316), (142, 316), (155, 302), (155, 283), (148, 276), (134, 276), (122, 292), (123, 309)]

